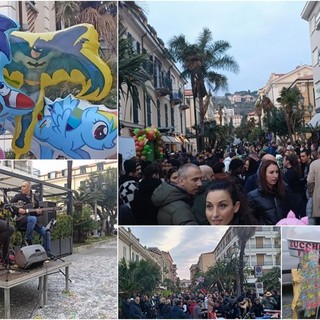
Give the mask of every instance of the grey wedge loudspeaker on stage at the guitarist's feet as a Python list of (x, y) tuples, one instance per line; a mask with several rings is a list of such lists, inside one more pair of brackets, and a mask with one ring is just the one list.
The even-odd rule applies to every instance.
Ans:
[(15, 255), (16, 264), (22, 269), (38, 267), (47, 259), (47, 253), (40, 244), (22, 247)]

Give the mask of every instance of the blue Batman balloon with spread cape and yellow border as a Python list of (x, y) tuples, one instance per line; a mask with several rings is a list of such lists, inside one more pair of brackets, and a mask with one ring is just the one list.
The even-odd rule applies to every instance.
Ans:
[[(19, 158), (30, 150), (38, 119), (43, 116), (47, 88), (71, 82), (79, 85), (77, 98), (99, 101), (109, 93), (112, 76), (108, 65), (99, 57), (98, 33), (90, 24), (57, 32), (12, 32), (10, 45), (12, 61), (4, 75), (10, 85), (19, 88), (35, 103), (32, 113), (15, 119), (12, 147)], [(88, 111), (87, 115), (93, 113)], [(74, 151), (70, 149), (70, 154), (71, 150)]]

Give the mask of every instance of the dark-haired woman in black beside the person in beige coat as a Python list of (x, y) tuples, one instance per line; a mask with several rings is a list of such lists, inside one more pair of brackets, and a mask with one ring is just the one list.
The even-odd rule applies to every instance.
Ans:
[(293, 153), (285, 155), (283, 165), (286, 168), (284, 180), (287, 183), (288, 194), (290, 195), (290, 209), (295, 213), (297, 218), (302, 218), (306, 215), (306, 201), (298, 156)]

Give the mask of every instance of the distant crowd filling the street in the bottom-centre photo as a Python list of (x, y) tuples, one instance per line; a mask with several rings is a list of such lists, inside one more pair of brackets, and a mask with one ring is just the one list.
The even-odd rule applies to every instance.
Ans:
[(169, 297), (143, 294), (123, 300), (120, 319), (257, 319), (280, 318), (278, 290), (256, 294), (251, 290), (236, 298), (227, 291), (176, 294)]

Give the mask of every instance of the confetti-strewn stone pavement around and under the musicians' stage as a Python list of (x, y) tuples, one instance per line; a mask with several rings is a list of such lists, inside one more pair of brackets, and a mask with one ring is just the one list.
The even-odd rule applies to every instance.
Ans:
[[(117, 319), (117, 239), (74, 249), (64, 257), (71, 261), (69, 293), (61, 273), (48, 277), (48, 300), (39, 308), (38, 279), (16, 286), (11, 292), (13, 319)], [(0, 319), (4, 318), (0, 289)]]

